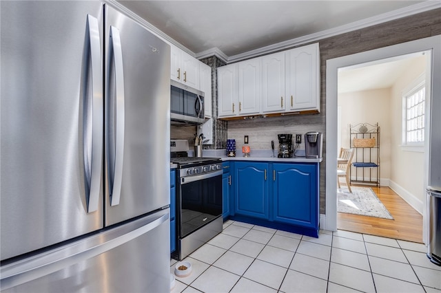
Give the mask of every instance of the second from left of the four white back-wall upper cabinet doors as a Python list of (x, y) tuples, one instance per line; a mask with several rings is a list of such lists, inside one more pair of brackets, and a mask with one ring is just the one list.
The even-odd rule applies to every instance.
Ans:
[(260, 59), (238, 63), (239, 115), (260, 111)]

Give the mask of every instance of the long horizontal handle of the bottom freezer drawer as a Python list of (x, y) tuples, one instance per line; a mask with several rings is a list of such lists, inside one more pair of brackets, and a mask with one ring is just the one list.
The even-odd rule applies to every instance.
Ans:
[[(123, 245), (154, 228), (161, 226), (169, 219), (169, 212), (164, 211), (154, 219), (143, 220), (143, 225), (134, 230), (126, 231), (119, 227), (116, 230), (107, 231), (105, 235), (96, 235), (90, 240), (79, 241), (55, 250), (53, 253), (43, 253), (41, 256), (23, 259), (12, 265), (5, 265), (0, 270), (0, 290), (41, 278), (53, 272), (68, 268), (70, 265), (92, 259), (99, 254)], [(147, 224), (145, 224), (147, 222)]]

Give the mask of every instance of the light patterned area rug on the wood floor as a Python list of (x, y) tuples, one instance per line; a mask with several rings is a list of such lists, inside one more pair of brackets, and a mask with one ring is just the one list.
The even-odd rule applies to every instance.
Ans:
[(351, 186), (352, 193), (346, 186), (337, 192), (337, 211), (383, 219), (393, 219), (389, 210), (382, 204), (377, 195), (369, 187)]

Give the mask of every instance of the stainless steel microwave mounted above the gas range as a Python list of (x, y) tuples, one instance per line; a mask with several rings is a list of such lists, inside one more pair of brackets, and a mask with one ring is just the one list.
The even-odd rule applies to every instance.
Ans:
[(170, 80), (170, 120), (172, 125), (197, 125), (204, 120), (204, 93)]

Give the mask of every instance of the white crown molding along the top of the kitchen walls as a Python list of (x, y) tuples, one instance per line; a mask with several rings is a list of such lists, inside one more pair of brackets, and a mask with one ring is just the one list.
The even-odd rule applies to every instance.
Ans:
[(233, 55), (233, 56), (227, 56), (218, 47), (213, 47), (213, 48), (211, 48), (209, 50), (205, 50), (203, 52), (194, 53), (191, 50), (189, 50), (187, 47), (185, 47), (184, 45), (181, 45), (181, 43), (178, 43), (177, 41), (172, 39), (172, 37), (168, 36), (163, 31), (154, 27), (154, 25), (152, 25), (152, 23), (149, 23), (145, 19), (139, 17), (139, 15), (132, 12), (132, 10), (125, 8), (125, 6), (123, 6), (121, 3), (117, 2), (116, 0), (102, 0), (102, 1), (104, 3), (109, 3), (110, 6), (117, 8), (121, 12), (127, 14), (127, 16), (129, 16), (129, 17), (132, 17), (132, 19), (141, 23), (141, 25), (143, 25), (143, 27), (145, 27), (147, 30), (150, 30), (150, 32), (152, 32), (153, 34), (155, 34), (159, 38), (163, 39), (163, 41), (169, 43), (170, 45), (174, 45), (174, 46), (178, 47), (179, 49), (187, 52), (187, 54), (189, 54), (190, 56), (193, 56), (198, 59), (216, 56), (217, 58), (220, 58), (220, 60), (224, 61), (225, 63), (234, 63), (234, 62), (238, 62), (238, 61), (243, 61), (245, 59), (261, 56), (264, 54), (271, 54), (276, 51), (281, 51), (281, 50), (289, 49), (291, 47), (296, 47), (299, 45), (305, 45), (307, 43), (320, 41), (322, 39), (327, 39), (331, 36), (337, 36), (338, 34), (345, 34), (347, 32), (352, 32), (354, 30), (368, 28), (369, 26), (372, 26), (372, 25), (378, 25), (380, 23), (385, 23), (387, 21), (393, 21), (396, 19), (400, 19), (402, 17), (409, 17), (413, 14), (418, 14), (420, 12), (426, 12), (429, 10), (441, 8), (441, 1), (428, 0), (428, 1), (421, 2), (421, 3), (417, 3), (413, 6), (408, 6), (406, 8), (401, 8), (398, 10), (393, 10), (391, 12), (379, 14), (379, 15), (376, 15), (375, 17), (369, 17), (369, 18), (363, 19), (361, 21), (355, 21), (353, 23), (348, 23), (346, 25), (340, 25), (337, 28), (323, 30), (321, 32), (316, 32), (314, 34), (300, 36), (299, 38), (296, 38), (296, 39), (291, 39), (288, 41), (283, 41), (283, 42), (269, 45), (266, 47), (261, 47), (256, 50), (244, 52), (244, 53)]

